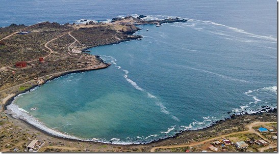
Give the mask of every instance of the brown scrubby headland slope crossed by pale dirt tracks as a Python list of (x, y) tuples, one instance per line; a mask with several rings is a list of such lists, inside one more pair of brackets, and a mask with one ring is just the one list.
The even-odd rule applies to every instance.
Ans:
[[(121, 29), (119, 29), (121, 27)], [(22, 29), (20, 29), (22, 28)], [(0, 90), (63, 71), (90, 70), (105, 65), (98, 57), (82, 53), (83, 49), (141, 38), (130, 25), (94, 24), (61, 25), (43, 22), (31, 26), (6, 27), (8, 37), (0, 45)], [(5, 31), (5, 28), (1, 28)], [(18, 34), (19, 32), (30, 32)], [(43, 57), (43, 63), (38, 59)], [(17, 61), (27, 67), (18, 68)]]

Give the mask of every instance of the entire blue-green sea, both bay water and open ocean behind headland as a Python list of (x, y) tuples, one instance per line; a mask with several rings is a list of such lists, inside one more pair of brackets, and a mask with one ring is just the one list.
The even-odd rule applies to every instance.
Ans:
[(276, 1), (0, 2), (0, 26), (140, 14), (188, 21), (139, 25), (140, 41), (89, 49), (112, 65), (18, 96), (13, 116), (61, 137), (130, 144), (277, 108)]

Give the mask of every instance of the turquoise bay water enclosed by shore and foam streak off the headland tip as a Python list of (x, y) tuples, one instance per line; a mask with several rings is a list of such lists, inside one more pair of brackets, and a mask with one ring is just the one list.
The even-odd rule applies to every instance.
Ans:
[(140, 41), (90, 49), (109, 68), (60, 77), (8, 108), (58, 136), (129, 144), (277, 107), (276, 38), (193, 19), (139, 27)]

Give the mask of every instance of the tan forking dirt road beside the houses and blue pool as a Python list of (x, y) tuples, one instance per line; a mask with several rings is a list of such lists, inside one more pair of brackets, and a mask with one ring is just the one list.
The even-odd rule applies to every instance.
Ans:
[[(253, 122), (253, 123), (251, 123), (251, 124), (249, 124), (249, 125), (247, 126), (247, 128), (249, 129), (248, 131), (242, 131), (242, 132), (236, 132), (236, 133), (221, 135), (221, 136), (217, 136), (217, 137), (214, 137), (214, 138), (211, 138), (211, 139), (207, 139), (207, 140), (204, 140), (204, 141), (193, 142), (193, 143), (191, 143), (191, 144), (170, 145), (170, 146), (156, 146), (156, 147), (151, 148), (150, 152), (155, 152), (156, 149), (159, 149), (159, 148), (177, 148), (177, 147), (186, 147), (186, 146), (197, 146), (197, 145), (201, 145), (201, 144), (204, 144), (205, 142), (209, 142), (209, 141), (212, 141), (212, 140), (215, 140), (215, 139), (224, 138), (224, 137), (230, 136), (230, 135), (244, 134), (244, 133), (254, 133), (254, 134), (257, 134), (257, 135), (259, 135), (261, 138), (263, 138), (263, 139), (265, 139), (266, 141), (269, 141), (269, 143), (271, 143), (270, 140), (266, 139), (266, 138), (263, 137), (260, 133), (258, 133), (257, 131), (253, 130), (253, 127), (259, 126), (259, 125), (264, 125), (264, 124), (274, 124), (274, 123), (276, 123), (276, 122), (261, 122), (261, 121)], [(261, 150), (265, 150), (265, 149), (262, 148)]]

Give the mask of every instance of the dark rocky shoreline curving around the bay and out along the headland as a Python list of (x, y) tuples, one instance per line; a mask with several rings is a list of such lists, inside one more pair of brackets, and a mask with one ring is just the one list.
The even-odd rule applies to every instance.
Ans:
[[(133, 24), (133, 25), (140, 25), (140, 24), (156, 24), (156, 25), (161, 25), (163, 23), (173, 23), (173, 22), (186, 22), (187, 20), (186, 19), (180, 19), (180, 18), (174, 18), (174, 19), (164, 19), (164, 20), (142, 20), (142, 18), (144, 18), (143, 15), (139, 16), (139, 18), (134, 18), (134, 17), (131, 17), (131, 16), (128, 16), (128, 17), (125, 17), (125, 18), (115, 18), (113, 19), (113, 22), (116, 23), (116, 24), (120, 24), (120, 25), (129, 25), (131, 26), (130, 24)], [(131, 23), (130, 23), (131, 22)], [(94, 23), (91, 23), (89, 25), (92, 25), (92, 26), (96, 26), (96, 24)], [(55, 26), (58, 26), (58, 25), (55, 25)], [(128, 27), (129, 27), (128, 26)], [(32, 27), (31, 27), (32, 28)], [(33, 27), (34, 28), (34, 27)], [(100, 31), (104, 32), (105, 30), (103, 29), (103, 27), (99, 27)], [(107, 29), (106, 29), (107, 30)], [(117, 29), (118, 30), (118, 29)], [(140, 29), (137, 29), (137, 30), (140, 30)], [(101, 45), (110, 45), (110, 44), (118, 44), (120, 42), (125, 42), (125, 41), (131, 41), (131, 40), (136, 40), (136, 39), (140, 39), (142, 38), (142, 36), (132, 36), (137, 30), (133, 29), (132, 30), (126, 30), (124, 32), (123, 29), (120, 29), (119, 32), (121, 32), (121, 36), (123, 36), (123, 38), (121, 38), (120, 40), (112, 40), (111, 42), (106, 42), (106, 43), (95, 43), (94, 42), (82, 42), (81, 44), (82, 45), (75, 45), (75, 48), (77, 49), (80, 49), (80, 50), (87, 50), (89, 48), (92, 48), (92, 47), (95, 47), (95, 46), (101, 46)], [(69, 32), (70, 33), (70, 32)], [(114, 32), (110, 32), (110, 33), (114, 33)], [(78, 38), (78, 40), (83, 40), (82, 37), (79, 37), (77, 35), (73, 35), (75, 38)], [(84, 45), (84, 44), (90, 44), (90, 45)], [(57, 43), (59, 44), (59, 43)], [(52, 44), (53, 47), (55, 47), (55, 45), (57, 44)], [(62, 52), (61, 52), (62, 53)], [(84, 53), (83, 53), (84, 54)], [(59, 78), (59, 77), (62, 77), (62, 76), (65, 76), (67, 74), (71, 74), (71, 73), (81, 73), (81, 72), (85, 72), (85, 71), (91, 71), (91, 70), (97, 70), (97, 69), (105, 69), (107, 67), (109, 67), (111, 64), (108, 64), (108, 63), (105, 63), (105, 61), (100, 58), (99, 56), (95, 56), (96, 60), (99, 61), (100, 64), (104, 64), (103, 67), (100, 67), (100, 68), (93, 68), (93, 67), (89, 67), (89, 68), (83, 68), (83, 69), (79, 69), (79, 70), (72, 70), (72, 71), (66, 71), (66, 72), (63, 72), (63, 73), (60, 73), (60, 74), (57, 74), (57, 75), (53, 75), (51, 76), (50, 78), (46, 79), (45, 81), (51, 81), (51, 80), (54, 80), (56, 78)], [(40, 85), (32, 85), (22, 91), (18, 91), (18, 93), (15, 94), (15, 96), (11, 97), (10, 99), (8, 99), (6, 101), (6, 103), (4, 104), (4, 109), (7, 110), (7, 106), (10, 105), (14, 99), (20, 95), (20, 94), (23, 94), (23, 93), (27, 93), (28, 91), (34, 89), (35, 87), (37, 86), (40, 86)], [(6, 111), (7, 114), (9, 114), (12, 117), (12, 115)], [(254, 116), (254, 115), (266, 115), (266, 114), (276, 114), (277, 116), (277, 109), (276, 108), (271, 108), (269, 106), (262, 106), (260, 109), (258, 109), (257, 111), (255, 111), (255, 113), (249, 113), (247, 111), (242, 111), (240, 113), (236, 113), (236, 114), (231, 114), (231, 112), (227, 112), (228, 114), (230, 114), (230, 118), (225, 118), (225, 119), (220, 119), (220, 120), (217, 120), (217, 121), (214, 121), (212, 122), (212, 125), (208, 126), (208, 127), (205, 127), (205, 128), (200, 128), (200, 129), (197, 129), (197, 130), (185, 130), (185, 131), (180, 131), (180, 132), (177, 132), (175, 135), (173, 136), (169, 136), (169, 137), (166, 137), (166, 138), (162, 138), (162, 139), (158, 139), (158, 140), (154, 140), (154, 141), (151, 141), (149, 143), (142, 143), (142, 144), (130, 144), (130, 145), (122, 145), (122, 144), (114, 144), (113, 142), (111, 143), (100, 143), (98, 141), (83, 141), (83, 140), (76, 140), (76, 139), (70, 139), (70, 138), (63, 138), (63, 137), (58, 137), (58, 136), (55, 136), (53, 134), (50, 134), (46, 131), (43, 131), (31, 124), (29, 124), (27, 121), (23, 120), (23, 119), (20, 119), (19, 120), (21, 122), (23, 122), (24, 124), (28, 125), (29, 127), (31, 127), (32, 129), (35, 129), (36, 131), (39, 131), (39, 132), (42, 132), (43, 134), (45, 134), (46, 136), (50, 136), (50, 137), (53, 137), (54, 140), (55, 139), (60, 139), (60, 140), (65, 140), (65, 141), (73, 141), (73, 142), (78, 142), (78, 144), (80, 144), (79, 142), (84, 142), (86, 144), (92, 144), (92, 142), (96, 145), (108, 145), (108, 146), (121, 146), (123, 148), (138, 148), (140, 147), (141, 149), (150, 149), (151, 147), (154, 147), (154, 146), (158, 146), (158, 145), (164, 145), (166, 143), (172, 143), (173, 141), (172, 140), (176, 140), (177, 138), (180, 138), (180, 137), (183, 137), (184, 135), (187, 136), (187, 133), (198, 133), (200, 131), (207, 131), (207, 130), (211, 130), (212, 128), (215, 128), (219, 125), (222, 125), (224, 124), (225, 122), (227, 121), (231, 121), (231, 120), (237, 120), (237, 119), (241, 119), (242, 117), (244, 116)], [(18, 119), (14, 119), (14, 120), (18, 120)], [(187, 140), (188, 141), (188, 140)]]

